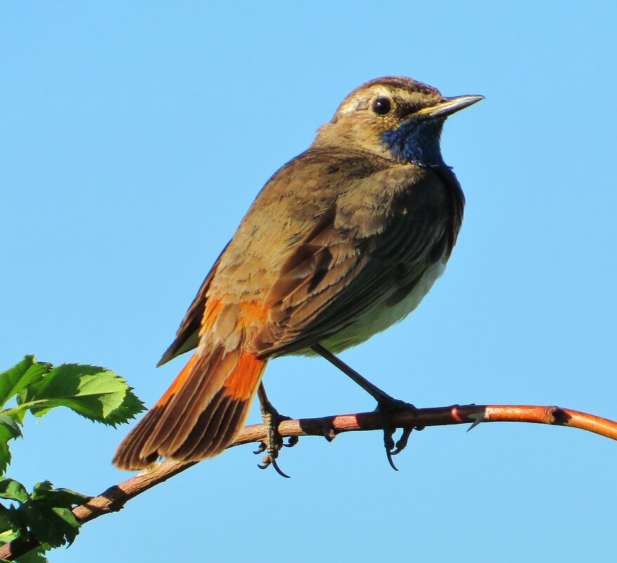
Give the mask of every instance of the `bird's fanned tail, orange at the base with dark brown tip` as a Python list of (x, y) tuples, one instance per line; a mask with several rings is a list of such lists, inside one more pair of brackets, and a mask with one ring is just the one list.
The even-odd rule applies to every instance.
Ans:
[(221, 453), (244, 425), (266, 360), (238, 347), (197, 349), (171, 387), (119, 445), (113, 463), (141, 470), (169, 458)]

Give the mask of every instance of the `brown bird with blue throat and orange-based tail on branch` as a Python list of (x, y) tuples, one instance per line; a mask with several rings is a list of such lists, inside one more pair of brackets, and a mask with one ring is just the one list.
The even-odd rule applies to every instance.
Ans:
[(268, 425), (261, 467), (275, 465), (283, 417), (261, 379), (268, 361), (286, 355), (323, 356), (377, 400), (391, 462), (411, 429), (395, 448), (389, 414), (413, 405), (337, 354), (405, 318), (443, 273), (465, 196), (443, 161), (441, 131), (482, 99), (448, 98), (402, 76), (349, 93), (256, 196), (158, 365), (193, 354), (113, 463), (143, 470), (160, 458), (212, 458), (240, 432), (257, 394)]

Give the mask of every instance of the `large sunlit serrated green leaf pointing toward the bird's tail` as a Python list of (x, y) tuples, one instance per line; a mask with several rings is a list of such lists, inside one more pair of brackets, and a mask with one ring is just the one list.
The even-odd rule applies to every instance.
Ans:
[(56, 406), (108, 425), (126, 422), (144, 410), (122, 377), (97, 365), (74, 363), (53, 368), (22, 405), (37, 416)]

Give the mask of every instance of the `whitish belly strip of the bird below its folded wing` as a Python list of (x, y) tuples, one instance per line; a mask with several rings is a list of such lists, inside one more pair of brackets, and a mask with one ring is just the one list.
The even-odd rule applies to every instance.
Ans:
[(406, 297), (394, 305), (387, 305), (384, 302), (378, 303), (358, 318), (358, 320), (337, 332), (336, 335), (325, 339), (321, 344), (333, 354), (365, 342), (377, 332), (382, 332), (395, 323), (402, 321), (408, 316), (427, 295), (435, 280), (441, 276), (446, 269), (445, 261), (437, 261), (427, 268), (420, 280), (413, 287)]

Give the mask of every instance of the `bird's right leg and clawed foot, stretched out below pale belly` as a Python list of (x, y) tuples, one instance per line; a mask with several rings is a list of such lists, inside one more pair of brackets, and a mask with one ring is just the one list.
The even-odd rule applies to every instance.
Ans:
[(394, 397), (391, 397), (385, 391), (382, 391), (382, 389), (379, 389), (379, 387), (372, 384), (356, 370), (344, 363), (344, 361), (337, 358), (337, 356), (332, 354), (332, 352), (325, 349), (321, 344), (313, 345), (312, 349), (327, 361), (332, 363), (332, 365), (339, 368), (339, 370), (349, 376), (353, 382), (360, 385), (362, 389), (364, 389), (368, 394), (370, 394), (370, 396), (373, 397), (373, 399), (375, 399), (375, 401), (377, 401), (377, 411), (382, 415), (382, 420), (384, 422), (384, 447), (386, 448), (388, 462), (392, 469), (398, 471), (398, 469), (396, 469), (396, 465), (394, 465), (394, 462), (392, 461), (392, 456), (400, 453), (403, 451), (405, 446), (407, 446), (409, 436), (414, 428), (417, 430), (421, 430), (422, 428), (413, 426), (403, 427), (403, 434), (401, 434), (401, 437), (395, 444), (393, 436), (394, 432), (396, 432), (396, 427), (392, 424), (392, 415), (405, 410), (415, 412), (417, 410), (415, 406), (410, 403), (405, 403), (405, 401), (394, 399)]

